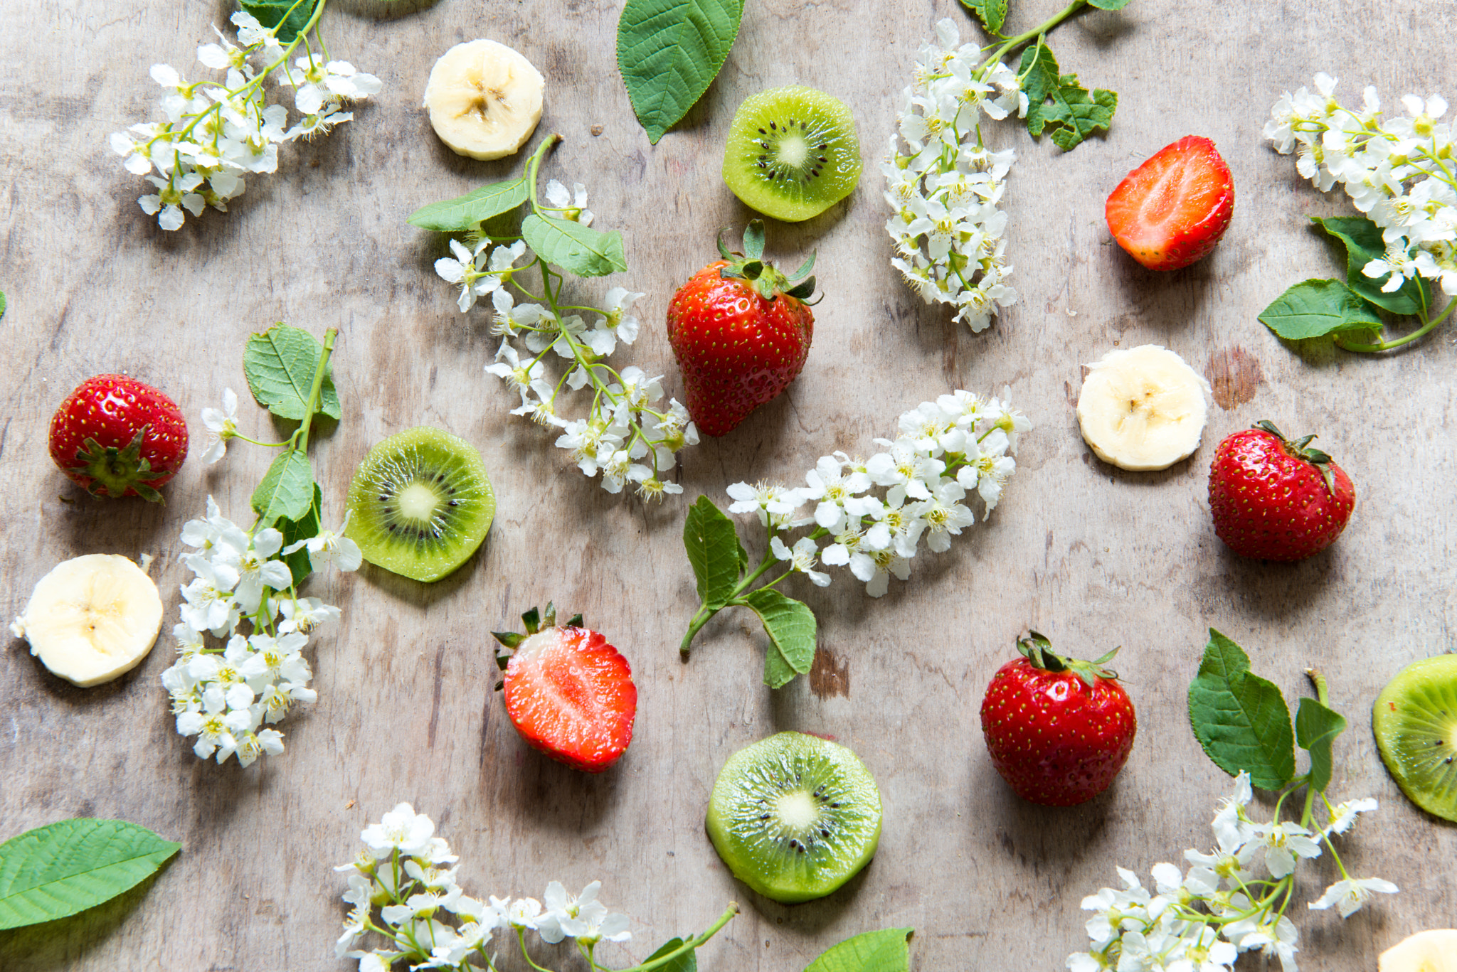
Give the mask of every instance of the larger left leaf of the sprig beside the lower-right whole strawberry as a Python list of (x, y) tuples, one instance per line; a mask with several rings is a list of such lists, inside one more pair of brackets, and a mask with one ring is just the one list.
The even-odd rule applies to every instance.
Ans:
[(1189, 721), (1209, 759), (1231, 777), (1246, 769), (1262, 790), (1278, 790), (1295, 777), (1285, 697), (1250, 672), (1249, 656), (1214, 628), (1199, 675), (1189, 683)]

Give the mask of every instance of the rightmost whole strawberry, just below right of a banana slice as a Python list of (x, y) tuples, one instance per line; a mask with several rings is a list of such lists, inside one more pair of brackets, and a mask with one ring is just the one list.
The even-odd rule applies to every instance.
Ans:
[(1330, 546), (1356, 503), (1330, 456), (1271, 421), (1227, 436), (1209, 465), (1214, 532), (1241, 557), (1304, 560)]

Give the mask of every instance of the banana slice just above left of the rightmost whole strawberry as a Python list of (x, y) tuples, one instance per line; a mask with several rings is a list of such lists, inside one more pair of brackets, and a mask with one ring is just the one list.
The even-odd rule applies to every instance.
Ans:
[(1157, 344), (1109, 351), (1088, 366), (1078, 426), (1119, 469), (1167, 469), (1193, 455), (1209, 414), (1209, 382)]

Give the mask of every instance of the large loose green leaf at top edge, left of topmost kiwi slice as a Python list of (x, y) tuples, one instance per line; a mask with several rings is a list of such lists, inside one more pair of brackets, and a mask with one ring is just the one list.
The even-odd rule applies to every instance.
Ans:
[(739, 36), (743, 0), (628, 0), (618, 70), (654, 146), (702, 98)]

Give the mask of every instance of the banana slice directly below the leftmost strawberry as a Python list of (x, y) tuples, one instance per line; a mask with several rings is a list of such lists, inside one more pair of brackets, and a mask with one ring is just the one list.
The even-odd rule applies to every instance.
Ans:
[(109, 682), (141, 663), (162, 630), (162, 597), (125, 557), (87, 554), (58, 564), (10, 631), (67, 682)]

